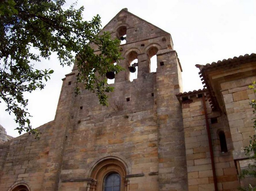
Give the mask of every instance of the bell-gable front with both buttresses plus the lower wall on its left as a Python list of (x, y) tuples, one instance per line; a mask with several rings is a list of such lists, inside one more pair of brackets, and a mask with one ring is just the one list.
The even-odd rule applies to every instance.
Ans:
[[(125, 27), (108, 107), (95, 94), (74, 95), (75, 65), (63, 79), (55, 120), (39, 128), (40, 140), (24, 134), (0, 149), (0, 190), (23, 183), (33, 191), (102, 191), (113, 171), (126, 191), (187, 190), (180, 104), (182, 71), (169, 33), (122, 10), (104, 30)], [(96, 50), (97, 53), (97, 50)], [(150, 58), (157, 55), (157, 72)], [(138, 59), (137, 79), (128, 66)]]

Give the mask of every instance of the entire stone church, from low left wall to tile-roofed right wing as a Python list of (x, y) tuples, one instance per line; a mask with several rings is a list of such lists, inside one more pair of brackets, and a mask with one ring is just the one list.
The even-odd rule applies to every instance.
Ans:
[[(256, 54), (200, 69), (203, 90), (183, 92), (166, 31), (122, 9), (105, 27), (121, 44), (111, 106), (75, 97), (77, 68), (63, 79), (55, 119), (0, 144), (1, 191), (236, 191), (253, 129)], [(126, 36), (125, 36), (126, 35)], [(150, 72), (157, 55), (157, 71)], [(128, 66), (137, 59), (137, 79)], [(6, 140), (5, 140), (6, 141)]]

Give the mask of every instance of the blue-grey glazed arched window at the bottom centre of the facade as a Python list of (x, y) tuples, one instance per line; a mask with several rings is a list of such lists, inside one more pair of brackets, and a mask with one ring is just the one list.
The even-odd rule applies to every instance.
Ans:
[(103, 191), (120, 191), (121, 177), (118, 173), (112, 172), (104, 178)]

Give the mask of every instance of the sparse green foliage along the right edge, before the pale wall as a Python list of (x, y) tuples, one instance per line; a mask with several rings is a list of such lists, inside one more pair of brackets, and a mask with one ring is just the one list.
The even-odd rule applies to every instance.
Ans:
[[(256, 82), (254, 81), (252, 85), (249, 86), (250, 89), (253, 89), (254, 93), (256, 93), (255, 88)], [(256, 100), (251, 100), (249, 103), (253, 108), (253, 128), (256, 131)], [(249, 146), (244, 148), (244, 152), (247, 156), (250, 157), (250, 159), (253, 161), (252, 164), (248, 165), (247, 169), (244, 169), (241, 171), (241, 178), (244, 178), (246, 176), (249, 177), (255, 177), (256, 178), (256, 134), (253, 136), (250, 136), (250, 144)], [(248, 188), (239, 188), (241, 191), (256, 191), (256, 187), (249, 185)]]

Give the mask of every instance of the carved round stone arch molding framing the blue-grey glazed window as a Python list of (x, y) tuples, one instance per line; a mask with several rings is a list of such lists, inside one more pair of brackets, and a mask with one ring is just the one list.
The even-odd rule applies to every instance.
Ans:
[(90, 170), (90, 178), (96, 180), (97, 185), (95, 191), (103, 190), (103, 181), (108, 174), (117, 173), (121, 178), (120, 191), (124, 191), (126, 187), (125, 176), (128, 174), (128, 166), (118, 157), (105, 157), (97, 161)]

